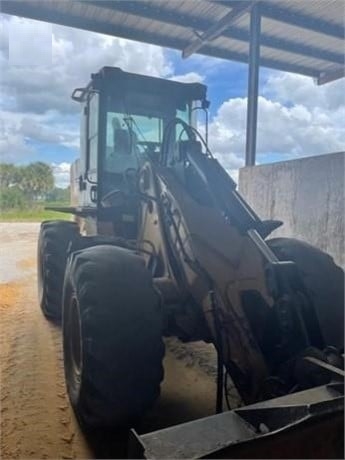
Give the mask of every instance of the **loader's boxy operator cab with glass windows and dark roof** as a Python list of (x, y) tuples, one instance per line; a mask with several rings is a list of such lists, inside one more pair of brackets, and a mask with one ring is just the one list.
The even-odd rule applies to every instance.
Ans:
[[(78, 205), (98, 209), (100, 218), (104, 198), (130, 192), (144, 162), (158, 161), (163, 133), (173, 119), (195, 125), (195, 109), (205, 106), (206, 86), (103, 67), (72, 98), (82, 105), (81, 155), (74, 174)], [(176, 126), (171, 145), (181, 131)]]

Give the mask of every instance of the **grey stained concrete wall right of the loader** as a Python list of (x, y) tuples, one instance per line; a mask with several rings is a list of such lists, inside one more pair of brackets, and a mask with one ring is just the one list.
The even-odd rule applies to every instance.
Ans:
[(341, 152), (242, 168), (239, 191), (262, 219), (284, 222), (273, 237), (308, 241), (344, 267), (344, 159)]

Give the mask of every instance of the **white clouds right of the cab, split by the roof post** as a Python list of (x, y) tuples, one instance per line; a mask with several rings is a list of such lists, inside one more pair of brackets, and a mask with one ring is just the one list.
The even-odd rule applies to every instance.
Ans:
[[(312, 79), (272, 72), (259, 97), (257, 154), (281, 159), (344, 150), (345, 81), (318, 87)], [(243, 165), (247, 98), (225, 101), (209, 128), (211, 150), (228, 172)]]

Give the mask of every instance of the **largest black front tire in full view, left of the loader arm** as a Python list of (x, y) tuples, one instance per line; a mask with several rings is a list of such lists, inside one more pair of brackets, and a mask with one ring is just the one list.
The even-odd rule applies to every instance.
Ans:
[(163, 379), (162, 308), (134, 253), (103, 245), (76, 251), (63, 300), (65, 378), (85, 429), (128, 428), (153, 405)]

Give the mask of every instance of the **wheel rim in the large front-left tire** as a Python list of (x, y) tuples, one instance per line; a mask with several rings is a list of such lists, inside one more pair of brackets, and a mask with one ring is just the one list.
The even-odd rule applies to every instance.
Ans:
[(67, 317), (67, 337), (65, 345), (66, 374), (72, 398), (77, 398), (82, 373), (82, 335), (79, 304), (75, 296), (71, 297)]

